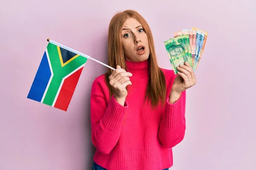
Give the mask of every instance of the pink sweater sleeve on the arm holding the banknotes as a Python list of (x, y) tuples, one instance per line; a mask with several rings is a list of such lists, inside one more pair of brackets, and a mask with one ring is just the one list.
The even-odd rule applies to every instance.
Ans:
[(158, 137), (164, 147), (175, 147), (185, 135), (186, 91), (183, 91), (180, 98), (173, 104), (166, 100), (165, 112), (160, 122)]

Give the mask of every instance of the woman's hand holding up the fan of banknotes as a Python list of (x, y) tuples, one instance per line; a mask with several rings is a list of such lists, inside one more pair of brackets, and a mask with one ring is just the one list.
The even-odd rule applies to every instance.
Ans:
[(169, 101), (172, 103), (174, 103), (180, 97), (183, 91), (192, 87), (196, 83), (194, 70), (188, 62), (185, 62), (185, 65), (179, 65), (177, 70), (179, 72), (177, 73), (178, 75), (173, 82), (169, 99)]

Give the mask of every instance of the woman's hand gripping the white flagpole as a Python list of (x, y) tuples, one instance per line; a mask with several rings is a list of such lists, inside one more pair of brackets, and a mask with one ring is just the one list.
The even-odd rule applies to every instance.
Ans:
[(114, 97), (121, 105), (125, 103), (125, 98), (128, 94), (126, 86), (131, 85), (129, 78), (131, 76), (130, 72), (126, 72), (119, 65), (116, 66), (116, 69), (109, 76), (109, 84), (113, 87)]

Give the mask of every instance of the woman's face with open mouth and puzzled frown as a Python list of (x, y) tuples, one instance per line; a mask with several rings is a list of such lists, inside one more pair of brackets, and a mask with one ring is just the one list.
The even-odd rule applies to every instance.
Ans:
[(148, 59), (148, 37), (142, 25), (134, 18), (128, 18), (121, 28), (122, 48), (125, 59), (141, 62)]

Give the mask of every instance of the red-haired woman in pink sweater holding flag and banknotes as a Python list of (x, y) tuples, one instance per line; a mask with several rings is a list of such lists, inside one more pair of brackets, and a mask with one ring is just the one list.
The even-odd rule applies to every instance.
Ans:
[(108, 64), (91, 90), (93, 170), (167, 170), (185, 134), (189, 64), (159, 68), (151, 30), (136, 11), (117, 13), (108, 32)]

